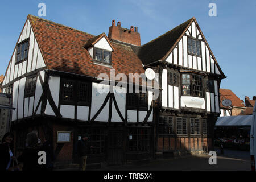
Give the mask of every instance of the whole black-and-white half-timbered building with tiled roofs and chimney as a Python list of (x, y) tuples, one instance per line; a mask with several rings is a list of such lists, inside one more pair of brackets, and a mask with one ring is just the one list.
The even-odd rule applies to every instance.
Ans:
[[(97, 79), (146, 68), (159, 73), (157, 100), (149, 90), (110, 92), (128, 86)], [(89, 133), (88, 163), (122, 164), (210, 150), (223, 78), (195, 18), (141, 46), (138, 28), (115, 20), (107, 37), (28, 15), (2, 85), (16, 108), (16, 155), (36, 129), (42, 142), (52, 140), (57, 162), (77, 163), (77, 140)]]

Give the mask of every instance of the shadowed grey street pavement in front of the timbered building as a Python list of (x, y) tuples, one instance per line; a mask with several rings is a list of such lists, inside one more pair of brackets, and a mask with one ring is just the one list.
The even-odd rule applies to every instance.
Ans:
[[(217, 152), (216, 165), (209, 164), (209, 155), (196, 155), (181, 159), (152, 160), (147, 164), (108, 166), (92, 171), (250, 171), (250, 152), (224, 150), (224, 154), (220, 154), (218, 148), (214, 151)], [(77, 169), (64, 170), (76, 171)]]

